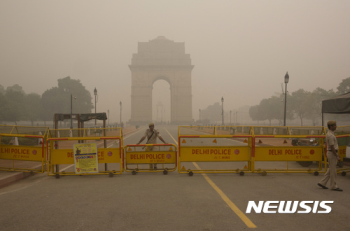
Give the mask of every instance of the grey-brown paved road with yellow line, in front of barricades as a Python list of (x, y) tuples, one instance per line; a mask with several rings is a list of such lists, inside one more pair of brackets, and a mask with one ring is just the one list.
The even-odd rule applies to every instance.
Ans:
[[(177, 127), (159, 129), (167, 142), (177, 141)], [(142, 135), (143, 131), (132, 134), (124, 144), (136, 143)], [(209, 167), (187, 164), (192, 169)], [(350, 177), (337, 178), (344, 192), (317, 187), (321, 177), (249, 173), (189, 177), (170, 172), (56, 179), (37, 174), (0, 189), (0, 230), (246, 230), (249, 226), (350, 230)], [(334, 204), (330, 214), (246, 214), (252, 200), (333, 200)]]

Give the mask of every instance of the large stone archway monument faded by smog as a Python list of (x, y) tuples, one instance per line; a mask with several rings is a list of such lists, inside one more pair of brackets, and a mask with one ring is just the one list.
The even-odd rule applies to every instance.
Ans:
[(157, 80), (170, 85), (170, 120), (172, 124), (192, 122), (193, 69), (185, 43), (159, 36), (149, 42), (139, 42), (132, 55), (131, 65), (131, 120), (132, 124), (152, 121), (152, 89)]

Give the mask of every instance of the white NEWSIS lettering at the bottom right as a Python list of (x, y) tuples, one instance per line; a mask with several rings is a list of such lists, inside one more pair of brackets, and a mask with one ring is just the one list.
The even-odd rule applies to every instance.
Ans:
[(249, 201), (246, 213), (330, 213), (334, 201)]

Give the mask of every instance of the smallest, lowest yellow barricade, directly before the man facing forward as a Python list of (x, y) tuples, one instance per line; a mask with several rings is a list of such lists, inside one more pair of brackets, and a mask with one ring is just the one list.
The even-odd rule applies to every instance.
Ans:
[[(174, 144), (140, 144), (124, 147), (124, 170), (138, 172), (173, 172), (177, 167), (177, 148)], [(141, 168), (148, 166), (148, 168)]]

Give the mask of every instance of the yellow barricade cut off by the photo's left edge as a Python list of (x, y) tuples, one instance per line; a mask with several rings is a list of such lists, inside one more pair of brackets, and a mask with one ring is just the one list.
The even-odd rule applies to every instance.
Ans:
[(0, 170), (45, 171), (47, 127), (0, 125)]

